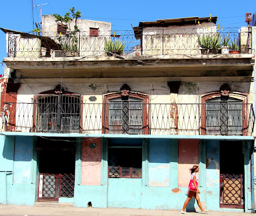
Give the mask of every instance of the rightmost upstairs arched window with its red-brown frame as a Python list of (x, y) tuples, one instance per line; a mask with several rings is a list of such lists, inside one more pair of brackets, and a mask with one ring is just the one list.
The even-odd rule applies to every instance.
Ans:
[(231, 92), (221, 97), (220, 92), (212, 92), (202, 97), (202, 134), (246, 135), (248, 125), (248, 95)]

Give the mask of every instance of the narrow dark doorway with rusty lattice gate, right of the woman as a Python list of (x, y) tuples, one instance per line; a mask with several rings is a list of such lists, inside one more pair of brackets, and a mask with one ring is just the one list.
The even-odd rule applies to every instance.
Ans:
[(244, 208), (242, 141), (220, 141), (220, 207)]

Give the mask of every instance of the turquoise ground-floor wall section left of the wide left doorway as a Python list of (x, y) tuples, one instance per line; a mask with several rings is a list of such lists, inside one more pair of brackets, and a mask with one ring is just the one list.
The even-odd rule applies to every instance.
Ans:
[(7, 176), (7, 188), (5, 174), (0, 173), (0, 190), (7, 189), (7, 200), (6, 194), (2, 193), (0, 203), (34, 205), (36, 188), (31, 176), (31, 173), (35, 173), (32, 163), (33, 145), (33, 137), (0, 136), (0, 171), (13, 171), (13, 175)]

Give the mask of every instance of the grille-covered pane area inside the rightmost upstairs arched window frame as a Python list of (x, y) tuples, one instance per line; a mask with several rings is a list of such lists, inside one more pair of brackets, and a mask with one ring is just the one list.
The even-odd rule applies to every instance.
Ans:
[(242, 102), (228, 99), (206, 103), (207, 134), (242, 134)]

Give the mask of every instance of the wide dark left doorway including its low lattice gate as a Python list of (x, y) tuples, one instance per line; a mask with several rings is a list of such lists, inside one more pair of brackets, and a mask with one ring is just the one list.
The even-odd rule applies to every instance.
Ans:
[(75, 144), (75, 138), (37, 139), (35, 149), (39, 151), (38, 201), (59, 201), (60, 197), (74, 197)]

